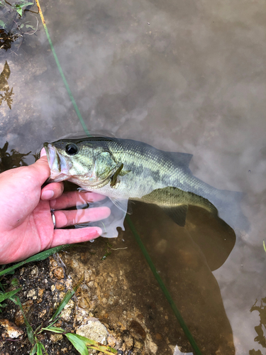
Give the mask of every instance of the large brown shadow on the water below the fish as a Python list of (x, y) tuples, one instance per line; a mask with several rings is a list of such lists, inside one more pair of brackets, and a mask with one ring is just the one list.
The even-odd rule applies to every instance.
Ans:
[(190, 207), (187, 224), (180, 227), (160, 207), (141, 202), (133, 206), (131, 219), (202, 354), (235, 354), (231, 324), (211, 273), (233, 249), (233, 229)]

